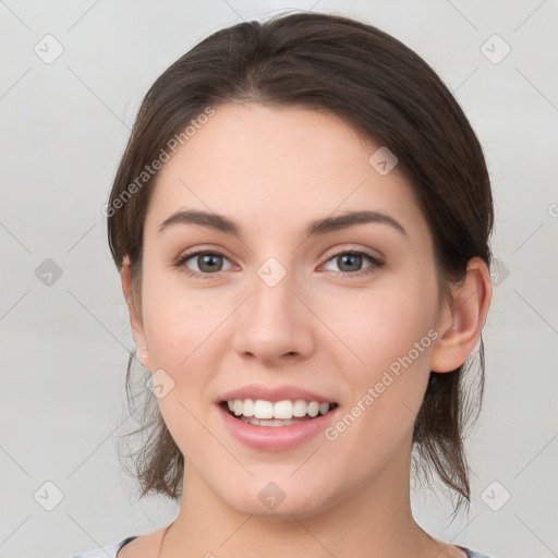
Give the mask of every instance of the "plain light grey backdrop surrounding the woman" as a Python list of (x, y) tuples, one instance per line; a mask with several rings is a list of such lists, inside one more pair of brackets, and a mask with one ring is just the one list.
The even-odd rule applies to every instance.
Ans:
[[(292, 8), (361, 17), (415, 49), (482, 141), (499, 272), (471, 512), (450, 524), (449, 500), (424, 490), (413, 507), (448, 542), (558, 556), (556, 1), (0, 0), (1, 557), (72, 556), (175, 517), (167, 499), (138, 502), (116, 457), (135, 426), (121, 424), (132, 336), (100, 209), (153, 81), (218, 28)], [(47, 258), (62, 270), (51, 284), (36, 275)]]

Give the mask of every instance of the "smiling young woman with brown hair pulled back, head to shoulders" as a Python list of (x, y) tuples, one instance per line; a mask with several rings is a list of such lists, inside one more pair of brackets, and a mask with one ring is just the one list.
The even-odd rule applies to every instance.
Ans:
[(413, 449), (469, 501), (492, 298), (483, 153), (417, 54), (317, 13), (215, 33), (146, 95), (106, 215), (142, 495), (180, 511), (82, 557), (484, 556), (410, 506)]

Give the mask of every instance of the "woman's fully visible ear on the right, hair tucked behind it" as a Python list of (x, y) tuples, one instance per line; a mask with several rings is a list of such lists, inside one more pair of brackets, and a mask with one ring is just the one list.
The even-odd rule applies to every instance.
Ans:
[(481, 337), (492, 295), (488, 267), (482, 258), (471, 258), (451, 307), (446, 305), (436, 325), (439, 337), (432, 351), (433, 372), (451, 372), (466, 361)]

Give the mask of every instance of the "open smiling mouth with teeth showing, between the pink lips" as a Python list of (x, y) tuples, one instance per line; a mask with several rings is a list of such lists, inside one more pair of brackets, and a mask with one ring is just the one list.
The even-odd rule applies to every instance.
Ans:
[(234, 418), (245, 424), (264, 427), (291, 426), (312, 421), (332, 412), (338, 404), (335, 402), (283, 400), (267, 401), (264, 399), (231, 399), (221, 401), (219, 405)]

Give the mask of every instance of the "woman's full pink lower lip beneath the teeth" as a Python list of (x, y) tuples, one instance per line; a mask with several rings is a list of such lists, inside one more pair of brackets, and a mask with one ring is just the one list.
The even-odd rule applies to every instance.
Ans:
[(289, 426), (256, 426), (235, 418), (219, 404), (217, 409), (229, 433), (245, 446), (265, 451), (286, 451), (323, 433), (339, 407), (311, 421)]

